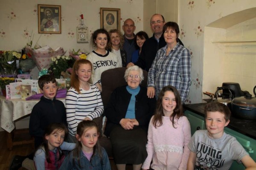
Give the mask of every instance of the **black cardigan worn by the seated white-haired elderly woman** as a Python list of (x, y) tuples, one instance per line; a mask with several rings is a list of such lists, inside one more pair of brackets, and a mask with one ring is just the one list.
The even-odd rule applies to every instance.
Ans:
[[(126, 86), (116, 88), (109, 99), (105, 108), (107, 124), (105, 127), (105, 135), (109, 136), (111, 131), (119, 124), (120, 120), (125, 118), (128, 105), (131, 100), (131, 94), (126, 90)], [(139, 122), (139, 127), (148, 132), (148, 124), (155, 111), (156, 99), (149, 99), (147, 96), (147, 88), (140, 86), (139, 93), (135, 96), (135, 118)]]

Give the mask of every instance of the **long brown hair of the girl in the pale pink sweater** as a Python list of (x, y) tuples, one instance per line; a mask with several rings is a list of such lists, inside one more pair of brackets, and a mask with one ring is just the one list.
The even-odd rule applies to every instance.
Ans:
[(175, 118), (179, 119), (181, 116), (183, 116), (183, 107), (182, 107), (182, 103), (181, 103), (181, 99), (180, 99), (180, 94), (177, 91), (177, 89), (175, 87), (171, 86), (171, 85), (163, 87), (162, 90), (160, 91), (159, 95), (158, 95), (157, 108), (156, 108), (156, 112), (154, 114), (154, 117), (152, 119), (152, 123), (153, 123), (155, 128), (160, 127), (160, 126), (163, 125), (164, 113), (163, 113), (162, 101), (163, 101), (163, 96), (164, 96), (166, 91), (172, 91), (174, 93), (175, 100), (176, 100), (176, 107), (175, 107), (172, 115), (170, 116), (170, 120), (171, 120), (172, 126), (174, 128), (176, 128), (174, 126), (174, 124), (175, 124), (174, 119)]

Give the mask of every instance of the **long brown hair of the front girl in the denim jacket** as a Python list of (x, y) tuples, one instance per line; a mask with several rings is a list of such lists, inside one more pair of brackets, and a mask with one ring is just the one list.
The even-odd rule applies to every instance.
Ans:
[[(84, 130), (87, 130), (87, 129), (90, 129), (90, 128), (93, 128), (93, 127), (96, 127), (97, 133), (99, 134), (99, 126), (96, 124), (96, 122), (93, 122), (92, 120), (83, 120), (78, 124), (77, 129), (76, 129), (76, 133), (81, 138), (84, 135)], [(81, 159), (80, 158), (80, 152), (81, 152), (81, 150), (82, 150), (81, 141), (77, 140), (76, 149), (74, 149), (74, 152), (73, 152), (73, 162), (75, 162), (75, 159), (77, 159), (80, 168), (82, 168), (81, 164), (80, 164), (80, 159)], [(99, 144), (99, 139), (93, 147), (92, 157), (95, 155), (95, 153), (99, 154), (99, 157), (101, 159), (101, 163), (103, 164), (102, 149), (101, 149), (100, 144)]]

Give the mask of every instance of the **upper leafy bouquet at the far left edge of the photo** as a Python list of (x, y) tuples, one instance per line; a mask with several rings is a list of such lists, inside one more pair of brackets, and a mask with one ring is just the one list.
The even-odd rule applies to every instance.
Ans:
[(15, 74), (16, 60), (21, 54), (16, 51), (0, 51), (0, 68), (3, 74)]

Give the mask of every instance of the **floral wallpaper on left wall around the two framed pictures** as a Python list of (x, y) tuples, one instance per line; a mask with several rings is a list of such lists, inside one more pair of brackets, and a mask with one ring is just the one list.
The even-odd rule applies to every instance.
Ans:
[[(61, 34), (38, 34), (38, 4), (61, 5)], [(37, 42), (41, 47), (62, 47), (67, 55), (72, 49), (92, 51), (90, 43), (76, 42), (76, 27), (83, 14), (90, 39), (93, 31), (100, 28), (101, 7), (120, 8), (121, 31), (127, 18), (134, 20), (136, 32), (143, 30), (143, 0), (8, 0), (0, 6), (0, 23), (5, 23), (0, 24), (0, 50), (20, 51), (31, 38), (33, 45)], [(32, 75), (38, 76), (36, 67)]]

